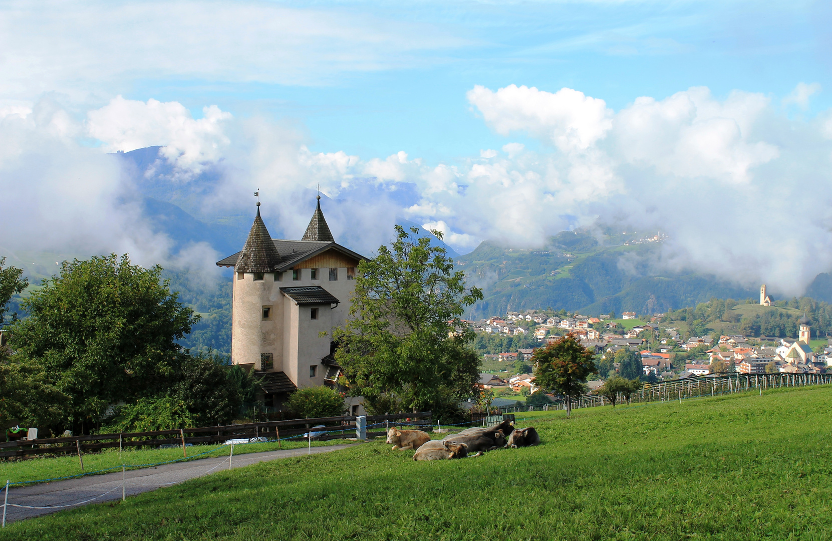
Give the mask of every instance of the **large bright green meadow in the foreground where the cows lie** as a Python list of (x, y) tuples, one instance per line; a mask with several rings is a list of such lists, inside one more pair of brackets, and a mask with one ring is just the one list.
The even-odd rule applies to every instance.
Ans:
[(534, 414), (535, 448), (414, 462), (362, 444), (0, 539), (830, 539), (830, 415), (832, 387)]

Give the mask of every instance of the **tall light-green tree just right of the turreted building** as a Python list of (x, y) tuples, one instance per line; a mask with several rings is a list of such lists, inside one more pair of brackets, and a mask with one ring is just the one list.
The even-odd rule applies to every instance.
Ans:
[(350, 393), (363, 395), (369, 409), (453, 409), (475, 392), (481, 362), (459, 316), (483, 293), (467, 288), (445, 250), (417, 228), (395, 229), (392, 246), (359, 264), (335, 359)]

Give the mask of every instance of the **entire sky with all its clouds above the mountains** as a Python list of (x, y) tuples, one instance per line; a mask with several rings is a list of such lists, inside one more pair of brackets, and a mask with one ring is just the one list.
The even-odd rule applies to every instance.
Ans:
[(369, 183), (361, 248), (396, 216), (460, 252), (600, 220), (797, 295), (832, 269), (830, 27), (829, 2), (3, 2), (0, 244), (170, 260), (106, 158), (162, 145), (171, 183), (223, 171), (208, 214)]

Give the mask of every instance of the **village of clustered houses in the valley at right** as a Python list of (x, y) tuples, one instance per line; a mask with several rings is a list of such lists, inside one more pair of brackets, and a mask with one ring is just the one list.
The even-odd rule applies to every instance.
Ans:
[[(760, 305), (771, 305), (765, 285), (760, 289)], [(535, 350), (565, 335), (577, 337), (596, 354), (601, 373), (596, 380), (587, 381), (589, 392), (597, 390), (612, 375), (618, 375), (620, 363), (612, 362), (612, 370), (607, 373), (603, 373), (602, 367), (609, 365), (604, 361), (614, 360), (620, 350), (637, 354), (640, 378), (650, 383), (726, 373), (824, 374), (832, 371), (832, 339), (815, 349), (810, 347), (812, 331), (805, 315), (798, 322), (796, 340), (745, 335), (686, 336), (689, 333), (666, 323), (665, 314), (646, 316), (630, 311), (622, 313), (620, 318), (614, 314), (597, 317), (566, 314), (564, 310), (557, 315), (544, 310), (509, 311), (502, 316), (466, 323), (479, 335), (533, 337), (536, 344), (515, 351), (483, 354), (479, 386), (492, 391), (497, 405), (540, 395), (533, 375)], [(547, 398), (554, 400), (555, 397)]]

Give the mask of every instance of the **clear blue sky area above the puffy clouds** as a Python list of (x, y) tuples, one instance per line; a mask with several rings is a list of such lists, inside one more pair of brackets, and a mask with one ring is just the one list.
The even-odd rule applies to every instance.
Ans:
[[(308, 6), (309, 4), (295, 4)], [(447, 45), (398, 52), (390, 66), (322, 73), (305, 84), (138, 78), (125, 97), (268, 112), (309, 130), (316, 151), (453, 160), (502, 146), (465, 99), (473, 85), (575, 88), (620, 109), (706, 86), (787, 96), (830, 86), (825, 2), (317, 2), (352, 17), (429, 27)], [(413, 25), (416, 27), (410, 27)], [(325, 71), (325, 70), (324, 70)], [(256, 74), (252, 74), (256, 78)], [(127, 90), (129, 88), (129, 90)], [(827, 92), (812, 114), (830, 105)], [(514, 137), (513, 139), (518, 139)], [(534, 141), (524, 140), (534, 145)]]

